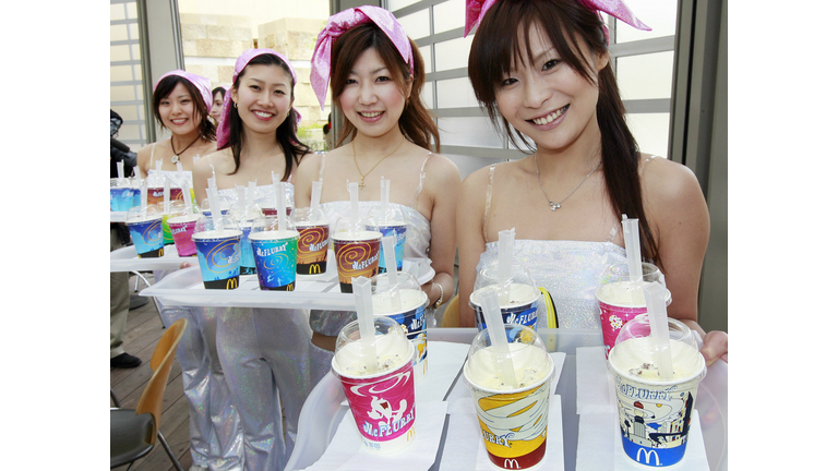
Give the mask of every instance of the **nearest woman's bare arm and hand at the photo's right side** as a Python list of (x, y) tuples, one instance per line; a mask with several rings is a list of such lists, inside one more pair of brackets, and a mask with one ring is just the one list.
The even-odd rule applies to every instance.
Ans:
[(658, 158), (646, 164), (642, 180), (646, 216), (672, 293), (667, 313), (702, 336), (708, 364), (718, 358), (727, 360), (727, 334), (705, 334), (697, 322), (698, 285), (710, 237), (710, 216), (698, 180), (687, 167)]

